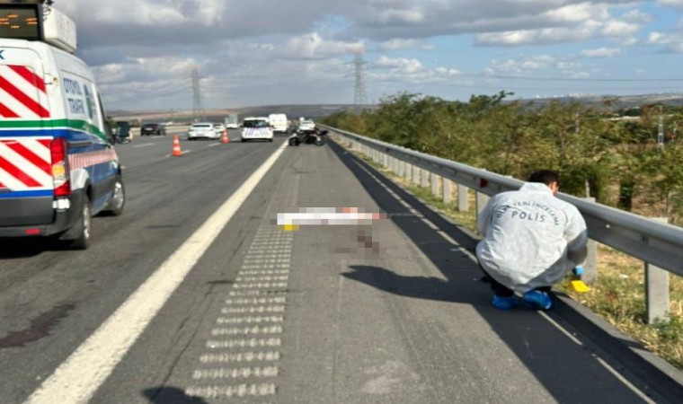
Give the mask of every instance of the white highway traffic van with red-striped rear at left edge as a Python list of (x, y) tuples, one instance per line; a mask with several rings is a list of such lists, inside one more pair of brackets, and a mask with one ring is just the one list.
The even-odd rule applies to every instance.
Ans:
[(0, 4), (0, 237), (85, 249), (93, 215), (123, 212), (121, 167), (74, 22), (42, 11)]

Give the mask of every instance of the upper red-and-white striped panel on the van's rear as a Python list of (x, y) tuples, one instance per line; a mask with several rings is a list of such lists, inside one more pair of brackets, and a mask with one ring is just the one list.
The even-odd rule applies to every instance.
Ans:
[(49, 118), (45, 83), (29, 67), (0, 65), (0, 117)]

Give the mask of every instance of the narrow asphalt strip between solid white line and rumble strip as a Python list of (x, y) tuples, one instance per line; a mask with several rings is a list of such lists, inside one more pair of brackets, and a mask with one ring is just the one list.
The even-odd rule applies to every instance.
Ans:
[[(213, 331), (218, 318), (225, 316), (222, 312), (228, 293), (235, 290), (236, 277), (254, 239), (259, 232), (277, 236), (280, 232), (272, 219), (277, 212), (296, 205), (292, 199), (296, 185), (283, 180), (289, 175), (286, 161), (282, 156), (245, 200), (91, 402), (194, 402), (184, 391), (199, 385), (196, 372), (215, 367), (201, 364), (202, 356), (217, 352), (208, 348), (208, 341), (229, 339), (217, 337)], [(251, 365), (261, 366), (255, 362)]]

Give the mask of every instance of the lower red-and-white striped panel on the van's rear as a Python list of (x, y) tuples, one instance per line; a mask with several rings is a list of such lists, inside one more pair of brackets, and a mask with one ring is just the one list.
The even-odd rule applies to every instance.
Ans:
[(0, 184), (12, 190), (52, 189), (49, 138), (0, 140)]

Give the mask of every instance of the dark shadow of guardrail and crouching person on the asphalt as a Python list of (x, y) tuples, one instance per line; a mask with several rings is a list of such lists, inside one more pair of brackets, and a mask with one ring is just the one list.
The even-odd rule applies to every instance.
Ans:
[[(656, 367), (645, 363), (643, 359), (625, 357), (634, 355), (626, 348), (616, 348), (617, 345), (624, 346), (608, 332), (580, 329), (576, 338), (584, 343), (581, 345), (568, 338), (566, 331), (554, 326), (535, 311), (520, 308), (503, 312), (493, 308), (490, 303), (490, 286), (480, 281), (483, 274), (470, 258), (478, 242), (473, 234), (433, 212), (419, 199), (387, 180), (368, 163), (362, 162), (340, 145), (333, 142), (329, 145), (377, 206), (430, 259), (446, 280), (435, 277), (405, 277), (388, 268), (369, 266), (350, 266), (350, 272), (342, 274), (343, 277), (391, 294), (471, 304), (558, 402), (643, 402), (643, 398), (629, 388), (624, 379), (633, 383), (640, 391), (652, 394), (656, 402), (677, 402), (683, 397), (681, 386), (661, 374)], [(386, 189), (377, 186), (377, 182), (403, 198), (413, 209), (436, 224), (439, 230), (448, 233), (458, 245), (447, 242), (419, 217), (410, 215), (408, 208)], [(576, 318), (583, 317), (560, 299), (555, 300), (554, 312), (548, 312), (547, 315), (556, 323), (564, 325), (569, 323), (567, 319), (577, 320)], [(596, 328), (589, 321), (577, 325)], [(606, 352), (609, 355), (605, 355)], [(620, 369), (620, 374), (616, 376), (600, 364), (599, 360)], [(635, 372), (632, 369), (634, 366), (639, 367)]]

